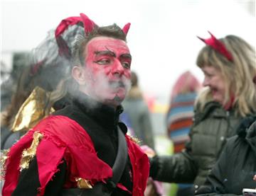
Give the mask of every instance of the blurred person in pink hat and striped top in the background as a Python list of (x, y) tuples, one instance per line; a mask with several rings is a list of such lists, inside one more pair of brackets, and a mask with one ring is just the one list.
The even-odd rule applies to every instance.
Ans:
[[(193, 105), (201, 89), (201, 83), (191, 71), (178, 77), (171, 91), (171, 102), (166, 114), (168, 137), (174, 144), (174, 153), (181, 152), (188, 142), (188, 133), (193, 124)], [(193, 184), (178, 184), (176, 195), (188, 195)]]

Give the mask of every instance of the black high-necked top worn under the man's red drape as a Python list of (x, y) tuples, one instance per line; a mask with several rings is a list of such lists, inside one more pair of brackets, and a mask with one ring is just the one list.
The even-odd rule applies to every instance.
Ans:
[[(97, 103), (95, 100), (80, 93), (80, 98), (74, 98), (70, 105), (58, 110), (53, 115), (63, 115), (78, 122), (90, 135), (95, 151), (97, 151), (97, 156), (112, 167), (117, 156), (117, 125), (123, 132), (127, 132), (127, 127), (122, 122), (119, 122), (120, 113), (122, 113), (122, 107), (114, 109), (108, 105)], [(120, 182), (132, 192), (131, 167), (130, 161), (127, 161), (127, 166), (124, 168), (124, 174)], [(55, 173), (53, 180), (48, 183), (44, 195), (61, 195), (67, 178), (65, 160), (60, 163), (58, 169), (58, 173)], [(12, 196), (36, 195), (40, 186), (35, 156), (31, 160), (29, 167), (21, 171), (18, 185)], [(112, 195), (129, 195), (129, 193), (117, 188), (112, 192)]]

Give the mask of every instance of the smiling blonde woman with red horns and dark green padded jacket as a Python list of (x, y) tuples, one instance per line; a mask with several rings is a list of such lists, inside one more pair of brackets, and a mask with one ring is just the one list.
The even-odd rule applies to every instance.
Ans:
[[(205, 75), (196, 99), (190, 142), (172, 156), (151, 158), (150, 176), (170, 183), (193, 183), (193, 195), (245, 117), (256, 113), (255, 50), (236, 35), (202, 39), (196, 64)], [(195, 190), (194, 190), (195, 189)]]

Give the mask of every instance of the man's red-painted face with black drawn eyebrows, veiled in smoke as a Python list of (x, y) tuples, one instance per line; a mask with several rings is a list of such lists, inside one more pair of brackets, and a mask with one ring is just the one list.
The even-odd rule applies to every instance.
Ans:
[(93, 38), (85, 54), (85, 93), (102, 103), (119, 105), (130, 86), (132, 57), (127, 44), (114, 38)]

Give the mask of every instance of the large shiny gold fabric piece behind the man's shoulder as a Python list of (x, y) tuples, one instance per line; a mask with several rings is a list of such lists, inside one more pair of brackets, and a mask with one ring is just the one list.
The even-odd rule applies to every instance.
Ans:
[(34, 127), (39, 120), (50, 113), (48, 100), (50, 93), (36, 86), (25, 102), (21, 105), (11, 127), (13, 132), (28, 131)]

